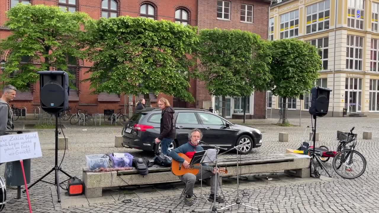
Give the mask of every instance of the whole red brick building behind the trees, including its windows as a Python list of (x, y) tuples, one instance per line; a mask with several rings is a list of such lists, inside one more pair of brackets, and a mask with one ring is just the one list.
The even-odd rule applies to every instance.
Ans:
[[(81, 11), (88, 13), (93, 19), (100, 17), (147, 17), (155, 20), (172, 20), (177, 23), (198, 26), (204, 28), (225, 28), (241, 29), (259, 34), (262, 38), (268, 38), (268, 16), (269, 0), (0, 0), (0, 39), (9, 36), (10, 31), (4, 27), (6, 21), (6, 11), (17, 3), (31, 3), (32, 5), (44, 4), (60, 6), (67, 11)], [(0, 61), (5, 62), (6, 52), (0, 56)], [(36, 63), (38, 61), (29, 61), (27, 57), (23, 58), (22, 63)], [(164, 96), (168, 98), (174, 107), (188, 108), (209, 108), (213, 107), (215, 113), (221, 106), (220, 97), (211, 97), (205, 88), (204, 82), (198, 79), (191, 79), (189, 91), (193, 94), (196, 102), (187, 103), (176, 97), (160, 94), (156, 97), (154, 94), (139, 95), (118, 95), (90, 94), (89, 82), (80, 82), (88, 78), (89, 74), (85, 72), (91, 67), (88, 61), (75, 60), (67, 58), (68, 70), (76, 76), (72, 80), (77, 90), (70, 91), (69, 104), (71, 107), (89, 110), (90, 113), (103, 113), (105, 109), (114, 109), (126, 106), (126, 111), (132, 112), (137, 98), (144, 97), (153, 107), (157, 104), (157, 99)], [(1, 70), (0, 70), (1, 72)], [(265, 92), (254, 92), (248, 100), (247, 117), (263, 118), (265, 115)], [(26, 107), (28, 113), (33, 113), (39, 104), (39, 83), (30, 85), (27, 92), (17, 92), (17, 97), (13, 101), (16, 107)], [(128, 103), (133, 105), (128, 107)], [(227, 97), (227, 118), (237, 118), (241, 116), (243, 102), (241, 97)]]

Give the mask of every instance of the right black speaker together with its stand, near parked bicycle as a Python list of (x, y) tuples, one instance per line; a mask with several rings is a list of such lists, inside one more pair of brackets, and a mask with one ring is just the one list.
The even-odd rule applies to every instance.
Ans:
[[(311, 98), (311, 105), (309, 107), (309, 113), (313, 116), (313, 119), (315, 119), (315, 128), (313, 130), (313, 151), (311, 153), (311, 157), (313, 160), (316, 159), (318, 164), (323, 168), (326, 173), (329, 175), (329, 177), (332, 177), (329, 172), (326, 170), (323, 164), (321, 164), (318, 157), (315, 155), (315, 147), (316, 147), (316, 121), (317, 117), (323, 117), (328, 113), (329, 108), (329, 95), (332, 90), (329, 88), (323, 88), (323, 87), (313, 87), (310, 90), (310, 93), (312, 95)], [(317, 168), (316, 168), (317, 169)]]

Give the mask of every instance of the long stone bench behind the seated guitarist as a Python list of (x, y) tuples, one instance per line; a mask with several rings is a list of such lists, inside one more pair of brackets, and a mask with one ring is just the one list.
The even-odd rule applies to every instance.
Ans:
[[(240, 161), (240, 159), (238, 160)], [(239, 165), (238, 172), (241, 172), (241, 175), (284, 171), (286, 174), (297, 177), (310, 177), (310, 158), (294, 153), (254, 157), (241, 156)], [(222, 174), (223, 177), (237, 175), (236, 157), (219, 158), (218, 166), (227, 167), (228, 173)], [(83, 183), (87, 198), (102, 197), (103, 188), (171, 182), (180, 182), (180, 180), (176, 175), (172, 174), (169, 167), (153, 166), (149, 168), (149, 174), (145, 177), (138, 174), (136, 169), (118, 172), (92, 172), (87, 171), (87, 168), (83, 168)], [(220, 184), (222, 183), (220, 182)]]

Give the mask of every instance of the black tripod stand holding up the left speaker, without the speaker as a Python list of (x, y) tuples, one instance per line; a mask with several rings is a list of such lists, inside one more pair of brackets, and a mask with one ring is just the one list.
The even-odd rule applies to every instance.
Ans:
[[(61, 194), (60, 194), (60, 189), (59, 189), (60, 186), (59, 185), (61, 183), (66, 182), (67, 180), (60, 183), (58, 171), (63, 172), (63, 174), (67, 175), (67, 177), (70, 177), (70, 178), (71, 178), (71, 175), (67, 174), (67, 172), (63, 171), (63, 169), (60, 166), (58, 166), (58, 114), (59, 113), (55, 113), (55, 166), (49, 172), (44, 174), (40, 179), (38, 179), (36, 182), (34, 182), (32, 185), (30, 185), (28, 187), (28, 189), (30, 189), (32, 186), (36, 185), (36, 183), (38, 183), (40, 181), (42, 181), (44, 183), (49, 183), (49, 184), (55, 185), (56, 186), (56, 193), (58, 195), (58, 202), (61, 202)], [(55, 182), (54, 183), (50, 183), (50, 182), (46, 182), (46, 181), (42, 180), (53, 171), (55, 172)], [(23, 190), (24, 193), (25, 193), (25, 191), (26, 190)]]

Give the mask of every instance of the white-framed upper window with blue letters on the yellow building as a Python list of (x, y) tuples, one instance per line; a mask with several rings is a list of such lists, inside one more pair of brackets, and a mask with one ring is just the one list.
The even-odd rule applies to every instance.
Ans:
[[(348, 0), (348, 27), (358, 30), (364, 30), (364, 14), (365, 0)], [(359, 27), (357, 27), (357, 23), (359, 24)]]

